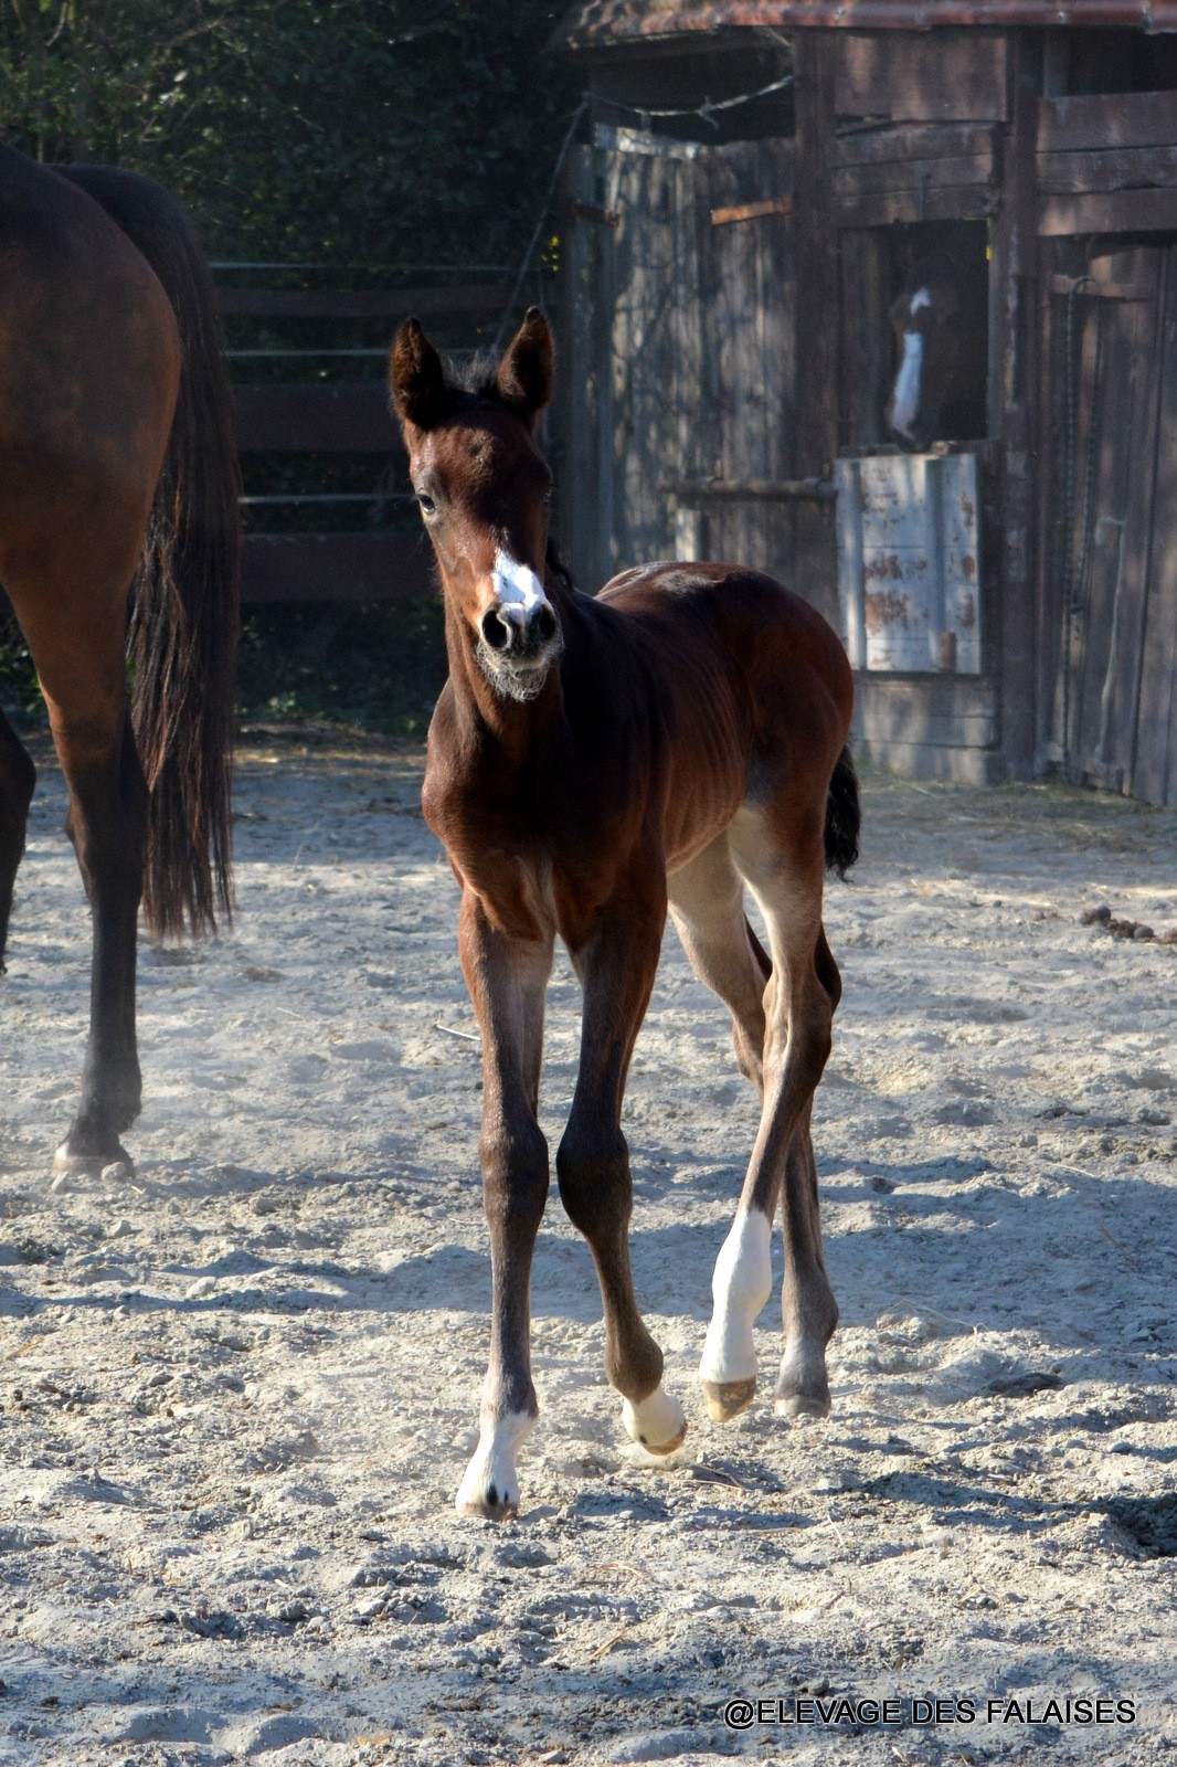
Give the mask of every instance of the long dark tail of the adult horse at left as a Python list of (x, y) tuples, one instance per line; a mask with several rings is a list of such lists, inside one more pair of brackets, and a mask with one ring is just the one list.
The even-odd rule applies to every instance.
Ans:
[(62, 166), (138, 246), (180, 329), (180, 398), (131, 594), (131, 716), (150, 792), (143, 910), (156, 935), (232, 917), (239, 474), (216, 292), (180, 205), (150, 178)]

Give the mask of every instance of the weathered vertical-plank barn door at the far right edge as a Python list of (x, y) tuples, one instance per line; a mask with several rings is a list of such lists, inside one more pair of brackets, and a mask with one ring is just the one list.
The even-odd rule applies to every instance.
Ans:
[[(1048, 756), (1059, 772), (1136, 792), (1142, 673), (1156, 560), (1158, 422), (1166, 256), (1135, 246), (1089, 276), (1050, 279), (1055, 682)], [(1172, 295), (1170, 295), (1172, 299)], [(1161, 451), (1163, 459), (1163, 451)], [(1172, 498), (1170, 498), (1172, 504)], [(1172, 521), (1172, 518), (1170, 518)], [(1168, 530), (1168, 544), (1177, 530)]]

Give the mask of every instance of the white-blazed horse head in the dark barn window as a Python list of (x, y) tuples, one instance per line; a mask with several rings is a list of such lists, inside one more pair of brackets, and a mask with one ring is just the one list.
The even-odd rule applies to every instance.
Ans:
[(986, 433), (986, 288), (940, 254), (912, 274), (891, 304), (898, 366), (887, 426), (912, 449)]

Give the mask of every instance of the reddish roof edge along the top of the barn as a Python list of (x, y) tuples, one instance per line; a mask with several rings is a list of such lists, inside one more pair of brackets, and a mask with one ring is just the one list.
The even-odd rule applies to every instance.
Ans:
[(569, 49), (696, 32), (806, 27), (931, 30), (937, 25), (1122, 25), (1177, 30), (1177, 0), (581, 0), (557, 42)]

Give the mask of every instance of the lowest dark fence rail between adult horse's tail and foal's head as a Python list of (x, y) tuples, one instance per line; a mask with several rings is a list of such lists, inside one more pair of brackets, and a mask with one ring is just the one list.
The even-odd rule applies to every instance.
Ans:
[(399, 601), (433, 588), (421, 534), (251, 534), (242, 601)]

